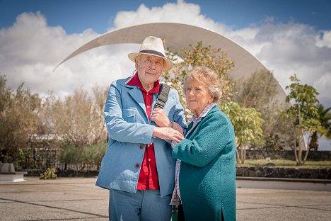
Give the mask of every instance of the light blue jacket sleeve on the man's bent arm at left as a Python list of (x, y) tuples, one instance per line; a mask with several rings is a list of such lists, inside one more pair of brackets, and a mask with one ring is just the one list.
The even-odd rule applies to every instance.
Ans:
[(112, 82), (105, 102), (105, 123), (112, 140), (140, 144), (153, 142), (155, 126), (144, 123), (128, 123), (123, 118), (121, 93), (118, 81)]

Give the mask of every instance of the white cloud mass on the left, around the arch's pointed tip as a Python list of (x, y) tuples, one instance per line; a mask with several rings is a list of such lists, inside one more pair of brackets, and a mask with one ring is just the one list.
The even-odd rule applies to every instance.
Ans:
[(47, 26), (39, 12), (22, 13), (13, 26), (0, 30), (0, 73), (12, 89), (25, 82), (40, 95), (54, 91), (59, 96), (81, 86), (88, 90), (95, 84), (108, 86), (114, 79), (129, 76), (134, 67), (126, 59), (131, 52), (128, 45), (93, 49), (52, 72), (64, 57), (97, 35), (91, 29), (67, 35), (62, 27)]

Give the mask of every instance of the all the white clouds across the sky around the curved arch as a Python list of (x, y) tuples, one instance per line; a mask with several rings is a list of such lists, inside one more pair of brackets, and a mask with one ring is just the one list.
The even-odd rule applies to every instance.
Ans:
[[(137, 11), (119, 11), (110, 30), (153, 22), (187, 23), (226, 35), (271, 69), (281, 86), (289, 85), (289, 76), (297, 74), (302, 83), (318, 89), (325, 106), (331, 106), (331, 30), (315, 30), (293, 22), (274, 23), (271, 18), (260, 26), (232, 30), (202, 15), (197, 4), (185, 1), (153, 8), (141, 4)], [(108, 86), (114, 79), (131, 75), (134, 66), (127, 54), (139, 45), (98, 47), (52, 73), (64, 57), (97, 35), (91, 29), (68, 35), (60, 26), (48, 26), (40, 13), (22, 13), (13, 26), (0, 30), (0, 73), (6, 75), (13, 89), (25, 81), (25, 86), (39, 94), (52, 90), (59, 95), (80, 86)]]

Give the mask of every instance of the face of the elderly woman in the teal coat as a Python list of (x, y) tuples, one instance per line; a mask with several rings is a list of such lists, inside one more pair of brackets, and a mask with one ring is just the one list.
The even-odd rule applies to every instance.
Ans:
[(207, 83), (190, 79), (187, 81), (185, 96), (188, 108), (199, 116), (209, 103), (213, 102), (214, 96), (209, 93)]

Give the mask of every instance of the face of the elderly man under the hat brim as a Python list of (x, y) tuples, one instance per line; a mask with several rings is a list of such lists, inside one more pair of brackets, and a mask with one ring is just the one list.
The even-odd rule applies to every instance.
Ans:
[(152, 84), (161, 76), (164, 60), (153, 55), (139, 55), (136, 60), (141, 84)]

